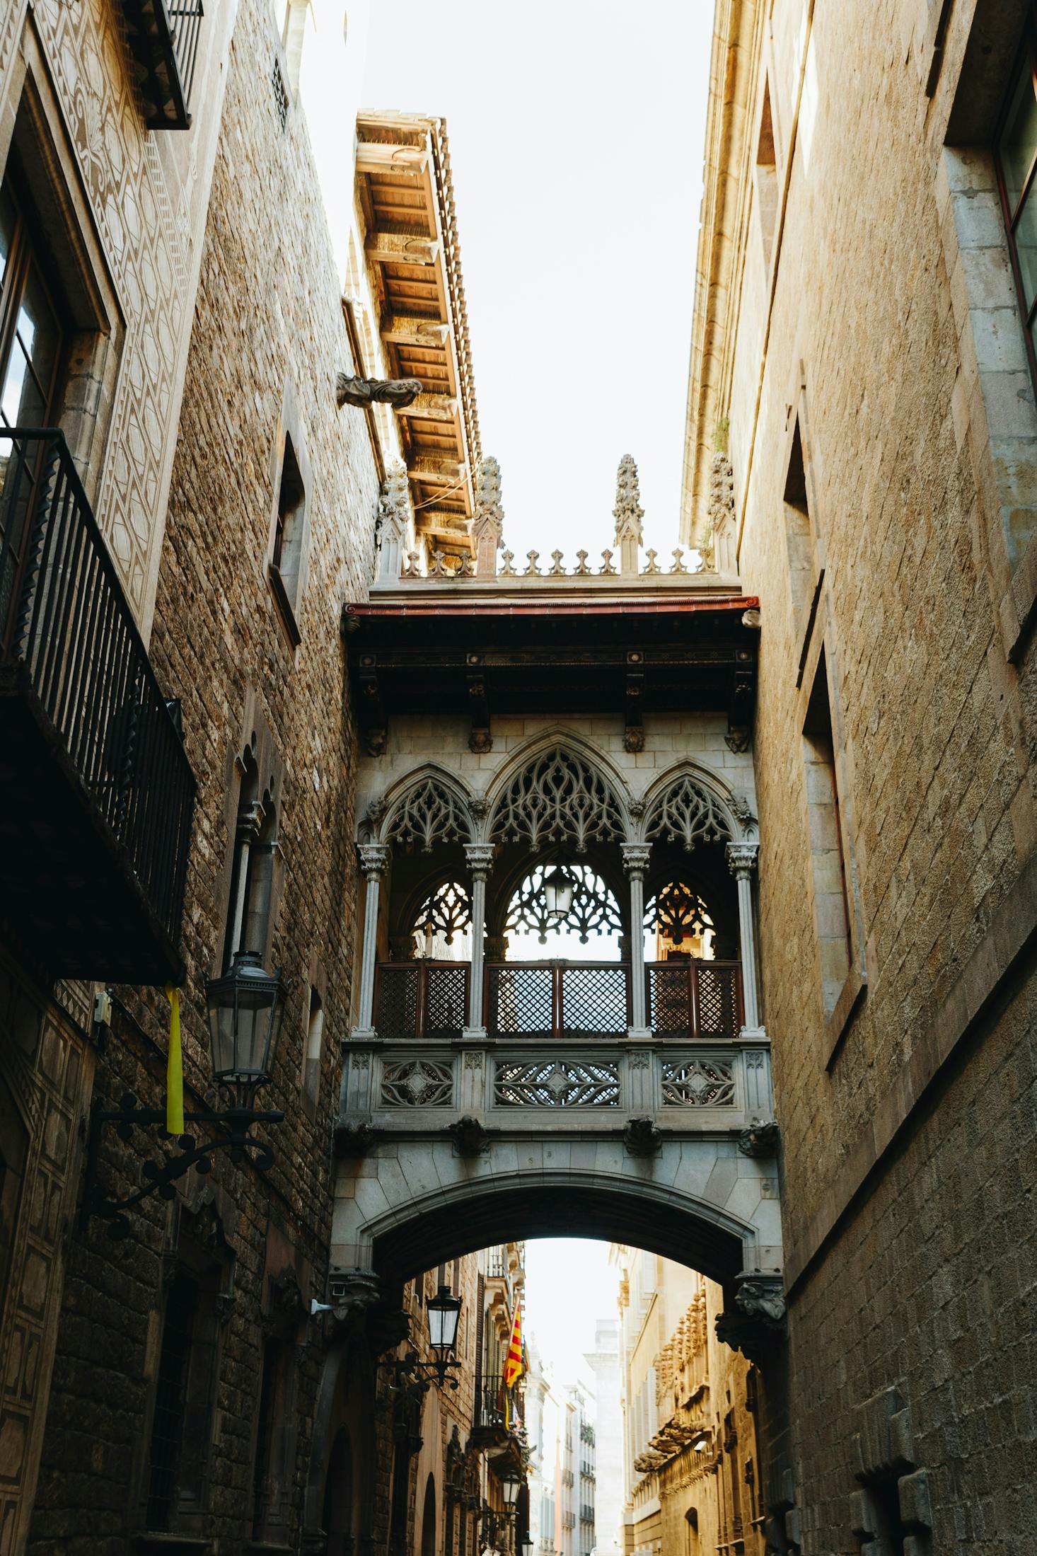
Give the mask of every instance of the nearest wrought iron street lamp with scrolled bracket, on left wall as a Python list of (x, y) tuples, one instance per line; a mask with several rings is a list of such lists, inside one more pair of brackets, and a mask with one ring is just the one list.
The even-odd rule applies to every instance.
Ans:
[(100, 1215), (107, 1221), (107, 1234), (113, 1239), (129, 1235), (131, 1223), (126, 1211), (141, 1200), (157, 1193), (173, 1200), (177, 1178), (191, 1167), (199, 1173), (211, 1172), (216, 1151), (230, 1151), (232, 1161), (249, 1156), (258, 1172), (274, 1165), (274, 1151), (264, 1141), (250, 1136), (253, 1123), (281, 1123), (280, 1109), (257, 1111), (255, 1099), (261, 1086), (271, 1080), (271, 1066), (277, 1039), (285, 1019), (288, 988), (281, 974), (264, 972), (258, 955), (238, 952), (230, 971), (213, 979), (207, 990), (208, 1030), (213, 1055), (213, 1080), (232, 1095), (232, 1105), (222, 1111), (211, 1108), (185, 1113), (185, 1123), (205, 1123), (215, 1131), (215, 1139), (197, 1142), (191, 1134), (180, 1134), (177, 1150), (169, 1156), (141, 1164), (138, 1189), (117, 1200), (100, 1183), (101, 1134), (106, 1125), (113, 1125), (120, 1139), (132, 1139), (135, 1127), (160, 1125), (165, 1130), (165, 1108), (138, 1108), (137, 1097), (127, 1091), (117, 1109), (95, 1103), (90, 1113), (87, 1139), (84, 1220)]

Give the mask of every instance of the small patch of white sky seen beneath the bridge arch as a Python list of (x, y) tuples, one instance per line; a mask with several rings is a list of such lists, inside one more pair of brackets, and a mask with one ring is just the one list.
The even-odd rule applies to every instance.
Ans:
[(619, 1316), (617, 1293), (608, 1243), (577, 1237), (525, 1243), (525, 1335), (536, 1341), (555, 1383), (594, 1383), (583, 1355), (594, 1351), (597, 1319)]

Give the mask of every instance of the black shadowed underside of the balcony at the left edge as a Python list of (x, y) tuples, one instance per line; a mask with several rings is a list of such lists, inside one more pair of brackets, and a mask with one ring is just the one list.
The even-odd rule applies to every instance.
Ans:
[(47, 977), (179, 982), (182, 962), (23, 666), (0, 666), (0, 920)]

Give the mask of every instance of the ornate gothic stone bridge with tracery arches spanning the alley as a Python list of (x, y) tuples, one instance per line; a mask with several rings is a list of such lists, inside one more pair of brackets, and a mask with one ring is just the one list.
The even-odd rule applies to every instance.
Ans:
[[(499, 576), (482, 492), (474, 576), (401, 563), (390, 512), (404, 577), (345, 622), (368, 755), (333, 1301), (567, 1232), (723, 1281), (735, 1341), (773, 1330), (756, 601), (639, 571), (622, 470), (619, 571)], [(611, 958), (550, 958), (558, 929)]]

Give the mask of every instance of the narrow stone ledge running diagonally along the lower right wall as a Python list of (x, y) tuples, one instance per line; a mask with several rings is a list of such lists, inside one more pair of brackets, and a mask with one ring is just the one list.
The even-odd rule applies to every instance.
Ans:
[(854, 1201), (866, 1189), (883, 1156), (906, 1128), (914, 1109), (937, 1080), (958, 1046), (972, 1032), (984, 1008), (1021, 960), (1037, 934), (1037, 853), (1023, 865), (993, 921), (961, 971), (931, 1025), (905, 1064), (897, 1085), (875, 1108), (864, 1131), (829, 1189), (804, 1235), (788, 1249), (787, 1287), (791, 1296), (813, 1262), (836, 1232)]

